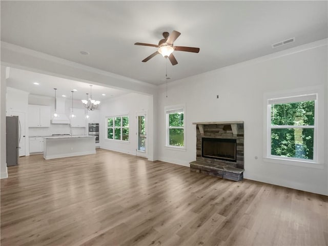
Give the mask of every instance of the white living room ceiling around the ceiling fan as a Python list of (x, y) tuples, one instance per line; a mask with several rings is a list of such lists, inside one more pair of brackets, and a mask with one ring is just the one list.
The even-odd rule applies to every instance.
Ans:
[(175, 51), (171, 81), (326, 38), (327, 1), (1, 1), (1, 40), (155, 85), (166, 60), (134, 43), (173, 30), (200, 52)]

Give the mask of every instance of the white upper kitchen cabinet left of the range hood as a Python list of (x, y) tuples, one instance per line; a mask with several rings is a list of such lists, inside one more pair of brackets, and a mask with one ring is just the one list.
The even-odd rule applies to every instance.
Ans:
[(50, 107), (29, 105), (29, 127), (50, 127)]

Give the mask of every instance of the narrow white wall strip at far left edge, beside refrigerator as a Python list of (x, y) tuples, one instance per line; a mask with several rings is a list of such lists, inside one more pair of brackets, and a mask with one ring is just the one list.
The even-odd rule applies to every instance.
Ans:
[(0, 178), (7, 178), (6, 162), (6, 67), (1, 66), (0, 84)]

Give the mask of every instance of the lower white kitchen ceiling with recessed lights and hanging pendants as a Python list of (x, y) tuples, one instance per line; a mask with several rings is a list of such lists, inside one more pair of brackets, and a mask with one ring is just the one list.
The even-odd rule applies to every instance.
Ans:
[[(39, 85), (34, 85), (33, 83), (38, 83)], [(27, 91), (34, 95), (50, 97), (55, 96), (54, 88), (56, 88), (57, 97), (66, 95), (66, 98), (72, 97), (71, 91), (75, 89), (76, 91), (73, 93), (74, 99), (86, 99), (86, 93), (89, 93), (90, 97), (90, 84), (15, 68), (9, 69), (7, 86)], [(126, 93), (128, 92), (125, 90), (92, 85), (92, 98), (100, 101)], [(105, 94), (105, 96), (102, 94)]]

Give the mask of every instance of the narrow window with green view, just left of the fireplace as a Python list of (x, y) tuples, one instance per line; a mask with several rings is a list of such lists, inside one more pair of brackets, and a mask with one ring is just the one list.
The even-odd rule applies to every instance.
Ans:
[(185, 147), (185, 114), (183, 108), (166, 109), (167, 146)]

